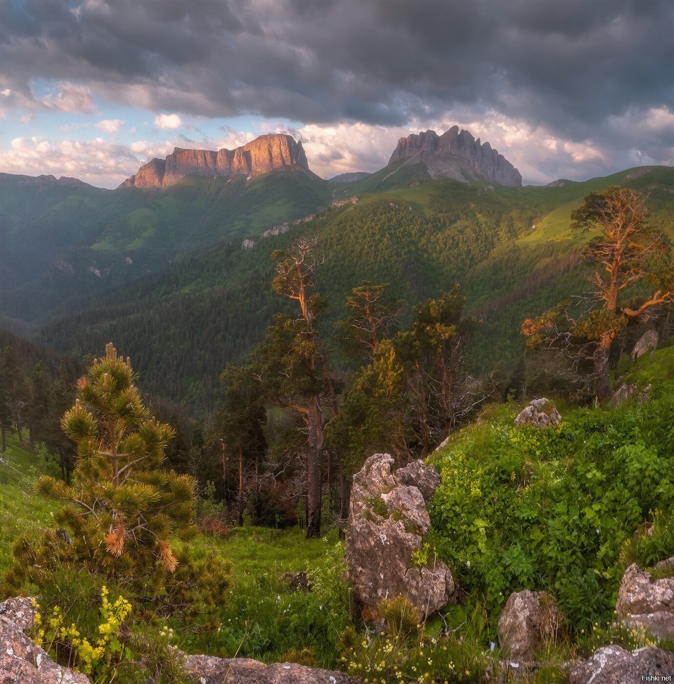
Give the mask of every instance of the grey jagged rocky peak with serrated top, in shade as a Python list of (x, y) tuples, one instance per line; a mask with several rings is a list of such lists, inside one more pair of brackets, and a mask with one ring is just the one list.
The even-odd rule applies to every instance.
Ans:
[(425, 163), (432, 178), (448, 176), (457, 181), (490, 179), (501, 185), (519, 186), (519, 171), (488, 142), (480, 143), (468, 131), (459, 132), (453, 126), (442, 135), (435, 131), (412, 133), (398, 140), (389, 164), (404, 159), (404, 163)]

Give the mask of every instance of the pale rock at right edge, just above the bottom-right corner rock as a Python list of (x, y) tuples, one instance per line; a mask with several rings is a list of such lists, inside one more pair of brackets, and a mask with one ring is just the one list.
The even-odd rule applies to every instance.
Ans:
[(674, 577), (653, 579), (633, 563), (623, 575), (616, 612), (628, 627), (674, 641)]

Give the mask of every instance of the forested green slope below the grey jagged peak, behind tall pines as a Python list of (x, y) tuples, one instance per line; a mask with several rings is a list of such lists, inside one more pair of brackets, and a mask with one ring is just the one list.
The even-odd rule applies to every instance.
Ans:
[[(633, 175), (493, 191), (483, 183), (428, 179), (359, 195), (357, 204), (328, 209), (285, 235), (257, 238), (251, 249), (237, 242), (182, 254), (170, 267), (91, 301), (86, 311), (44, 326), (40, 341), (82, 354), (112, 340), (143, 369), (147, 389), (209, 410), (218, 373), (262, 339), (284, 305), (270, 288), (272, 250), (309, 230), (331, 255), (319, 274), (328, 296), (327, 337), (360, 280), (390, 282), (391, 297), (410, 305), (460, 282), (484, 321), (471, 346), (471, 369), (489, 371), (500, 358), (514, 365), (523, 350), (521, 321), (585, 289), (579, 250), (591, 235), (569, 232), (571, 211), (584, 196), (614, 183), (650, 192), (653, 223), (674, 237), (674, 169)], [(411, 307), (403, 318), (410, 315)], [(336, 361), (343, 362), (339, 353)]]

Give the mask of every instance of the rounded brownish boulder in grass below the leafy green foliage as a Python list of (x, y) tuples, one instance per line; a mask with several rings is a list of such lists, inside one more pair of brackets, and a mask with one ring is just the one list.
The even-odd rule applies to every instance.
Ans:
[(530, 662), (546, 637), (555, 638), (562, 617), (545, 592), (525, 589), (508, 596), (498, 621), (501, 648), (515, 661)]

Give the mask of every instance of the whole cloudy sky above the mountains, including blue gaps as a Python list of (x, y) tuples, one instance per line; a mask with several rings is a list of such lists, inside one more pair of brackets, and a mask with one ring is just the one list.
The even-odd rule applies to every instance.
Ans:
[(0, 171), (279, 131), (327, 178), (454, 124), (524, 183), (674, 165), (674, 1), (0, 0)]

